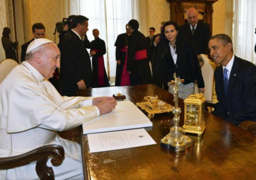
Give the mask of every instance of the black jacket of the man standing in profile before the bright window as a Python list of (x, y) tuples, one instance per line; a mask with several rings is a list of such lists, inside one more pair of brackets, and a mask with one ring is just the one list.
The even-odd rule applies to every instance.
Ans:
[(84, 80), (86, 88), (91, 87), (92, 65), (90, 56), (73, 31), (67, 33), (61, 43), (60, 87), (64, 91), (76, 91), (77, 82)]

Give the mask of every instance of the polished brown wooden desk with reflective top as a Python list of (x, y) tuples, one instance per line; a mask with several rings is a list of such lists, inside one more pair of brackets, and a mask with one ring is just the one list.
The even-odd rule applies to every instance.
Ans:
[[(123, 93), (131, 102), (158, 95), (174, 105), (173, 96), (154, 85), (106, 87), (80, 91), (81, 96), (112, 96)], [(184, 120), (184, 104), (180, 125)], [(162, 139), (172, 126), (172, 113), (155, 115), (153, 127), (146, 128), (155, 145), (89, 153), (87, 135), (82, 135), (81, 148), (85, 179), (256, 179), (256, 139), (233, 124), (205, 113), (206, 130), (201, 139), (184, 152), (160, 148)]]

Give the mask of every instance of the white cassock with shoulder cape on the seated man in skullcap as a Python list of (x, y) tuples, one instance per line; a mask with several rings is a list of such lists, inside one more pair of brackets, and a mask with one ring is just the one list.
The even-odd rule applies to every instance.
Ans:
[[(65, 159), (60, 166), (52, 166), (55, 179), (81, 178), (80, 145), (61, 139), (56, 131), (98, 116), (97, 107), (88, 105), (92, 105), (92, 99), (61, 97), (47, 79), (23, 61), (0, 84), (0, 157), (58, 144), (65, 150)], [(35, 165), (1, 170), (0, 179), (38, 179)]]

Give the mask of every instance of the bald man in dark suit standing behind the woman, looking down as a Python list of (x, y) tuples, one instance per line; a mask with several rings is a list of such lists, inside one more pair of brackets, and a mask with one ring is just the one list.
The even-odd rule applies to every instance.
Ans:
[(208, 54), (208, 42), (212, 34), (207, 23), (199, 21), (199, 11), (196, 6), (188, 7), (188, 23), (179, 28), (179, 34), (196, 44), (200, 54)]

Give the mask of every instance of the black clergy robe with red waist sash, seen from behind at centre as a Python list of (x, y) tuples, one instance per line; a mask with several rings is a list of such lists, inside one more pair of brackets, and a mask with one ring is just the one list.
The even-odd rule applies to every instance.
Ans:
[(138, 30), (131, 32), (128, 38), (126, 70), (131, 72), (130, 85), (152, 83), (146, 37)]

